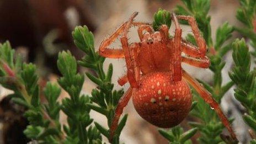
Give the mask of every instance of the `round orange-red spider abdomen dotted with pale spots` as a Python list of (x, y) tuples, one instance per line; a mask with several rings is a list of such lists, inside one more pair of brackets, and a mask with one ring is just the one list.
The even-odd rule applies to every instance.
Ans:
[(184, 80), (172, 82), (169, 72), (142, 76), (140, 87), (132, 92), (137, 113), (158, 127), (178, 125), (188, 115), (191, 101), (188, 84)]

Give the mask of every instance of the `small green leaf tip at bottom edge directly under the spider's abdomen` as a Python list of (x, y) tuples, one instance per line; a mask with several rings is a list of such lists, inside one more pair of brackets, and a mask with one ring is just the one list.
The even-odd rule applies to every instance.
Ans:
[(169, 141), (169, 143), (189, 144), (191, 143), (189, 138), (196, 134), (196, 131), (198, 131), (198, 128), (193, 128), (186, 132), (183, 132), (182, 127), (175, 126), (170, 130), (159, 129), (158, 131), (164, 138), (166, 138)]

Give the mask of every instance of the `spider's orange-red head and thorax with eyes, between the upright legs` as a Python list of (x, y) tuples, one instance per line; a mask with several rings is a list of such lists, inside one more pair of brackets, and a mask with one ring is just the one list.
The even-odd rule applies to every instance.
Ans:
[(163, 39), (162, 36), (159, 31), (153, 34), (145, 33), (142, 41), (138, 42), (140, 51), (138, 51), (137, 63), (143, 74), (170, 70), (173, 41)]

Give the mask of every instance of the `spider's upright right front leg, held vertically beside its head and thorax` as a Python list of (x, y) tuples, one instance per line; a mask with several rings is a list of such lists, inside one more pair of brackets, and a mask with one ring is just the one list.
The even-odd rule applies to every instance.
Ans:
[(178, 20), (174, 13), (172, 13), (172, 18), (175, 24), (175, 35), (174, 35), (174, 48), (173, 48), (173, 56), (170, 60), (170, 71), (173, 73), (173, 81), (181, 81), (182, 80), (182, 29), (179, 26)]

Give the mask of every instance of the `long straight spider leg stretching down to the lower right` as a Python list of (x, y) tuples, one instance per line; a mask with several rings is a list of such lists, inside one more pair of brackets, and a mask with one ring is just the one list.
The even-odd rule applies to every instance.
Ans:
[(234, 131), (232, 130), (232, 127), (230, 125), (230, 122), (228, 122), (228, 119), (225, 116), (225, 114), (223, 114), (223, 112), (220, 108), (220, 105), (218, 105), (218, 103), (214, 100), (214, 98), (212, 98), (211, 94), (203, 86), (201, 86), (201, 84), (198, 81), (196, 81), (196, 79), (191, 77), (184, 70), (183, 70), (183, 78), (185, 79), (186, 82), (191, 84), (191, 86), (193, 86), (195, 88), (196, 92), (199, 93), (199, 95), (202, 97), (202, 99), (204, 99), (204, 101), (206, 103), (208, 103), (211, 106), (211, 108), (213, 108), (216, 111), (218, 118), (220, 118), (220, 120), (222, 121), (222, 124), (224, 126), (226, 126), (226, 128), (230, 132), (232, 138), (234, 140), (237, 140), (236, 135), (234, 134)]

